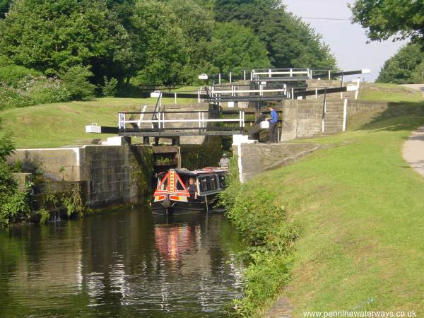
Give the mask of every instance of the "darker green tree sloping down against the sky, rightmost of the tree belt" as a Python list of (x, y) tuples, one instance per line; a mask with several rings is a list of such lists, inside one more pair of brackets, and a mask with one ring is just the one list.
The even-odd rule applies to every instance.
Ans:
[(310, 25), (276, 0), (216, 0), (216, 19), (237, 21), (265, 43), (274, 67), (334, 68), (336, 59)]

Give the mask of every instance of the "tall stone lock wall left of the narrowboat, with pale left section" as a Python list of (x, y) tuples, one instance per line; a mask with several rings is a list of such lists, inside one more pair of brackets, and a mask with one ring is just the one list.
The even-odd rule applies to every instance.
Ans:
[(50, 184), (80, 184), (90, 207), (133, 203), (151, 191), (151, 146), (18, 149), (8, 162), (18, 160), (24, 172), (36, 172)]

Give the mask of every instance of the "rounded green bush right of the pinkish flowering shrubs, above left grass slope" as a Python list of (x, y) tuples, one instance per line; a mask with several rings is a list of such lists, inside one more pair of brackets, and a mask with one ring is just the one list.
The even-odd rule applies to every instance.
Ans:
[(73, 66), (61, 76), (71, 100), (91, 100), (95, 86), (88, 81), (93, 76), (88, 66)]

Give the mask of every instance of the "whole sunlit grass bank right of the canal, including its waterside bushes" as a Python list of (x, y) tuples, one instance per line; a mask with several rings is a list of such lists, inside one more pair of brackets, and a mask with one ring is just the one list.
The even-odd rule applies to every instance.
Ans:
[[(252, 252), (240, 314), (261, 315), (283, 293), (294, 317), (306, 310), (424, 317), (424, 178), (401, 157), (422, 124), (423, 104), (394, 105), (346, 133), (314, 139), (326, 146), (233, 193), (230, 218), (252, 247), (262, 246)], [(264, 240), (250, 240), (252, 231)]]

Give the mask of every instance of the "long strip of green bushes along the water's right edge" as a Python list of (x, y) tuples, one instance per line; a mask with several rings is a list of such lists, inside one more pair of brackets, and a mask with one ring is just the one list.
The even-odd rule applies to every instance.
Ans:
[(237, 158), (230, 160), (228, 186), (220, 193), (227, 216), (235, 224), (249, 248), (245, 256), (245, 288), (241, 300), (235, 300), (240, 317), (256, 317), (278, 296), (287, 283), (291, 261), (290, 247), (297, 230), (285, 220), (284, 206), (276, 204), (276, 194), (251, 184), (240, 184)]

